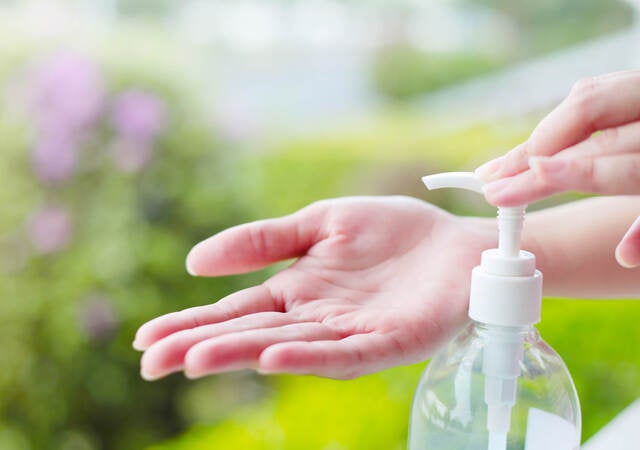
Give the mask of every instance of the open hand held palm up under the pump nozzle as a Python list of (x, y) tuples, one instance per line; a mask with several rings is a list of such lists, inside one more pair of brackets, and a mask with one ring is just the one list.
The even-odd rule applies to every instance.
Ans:
[(423, 360), (465, 323), (471, 268), (495, 243), (493, 222), (406, 197), (327, 200), (223, 231), (191, 250), (191, 273), (298, 259), (140, 327), (142, 376), (253, 368), (346, 379)]

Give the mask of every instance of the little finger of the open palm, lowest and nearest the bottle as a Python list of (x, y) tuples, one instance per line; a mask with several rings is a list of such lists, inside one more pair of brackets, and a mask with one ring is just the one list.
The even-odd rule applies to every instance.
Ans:
[(262, 353), (259, 370), (351, 379), (407, 363), (398, 342), (388, 335), (368, 333), (341, 340), (280, 343)]

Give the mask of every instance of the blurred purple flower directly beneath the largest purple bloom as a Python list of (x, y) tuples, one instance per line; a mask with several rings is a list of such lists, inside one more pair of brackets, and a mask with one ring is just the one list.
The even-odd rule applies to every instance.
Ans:
[(66, 133), (41, 137), (31, 153), (36, 176), (47, 184), (60, 183), (75, 172), (78, 162), (76, 144)]

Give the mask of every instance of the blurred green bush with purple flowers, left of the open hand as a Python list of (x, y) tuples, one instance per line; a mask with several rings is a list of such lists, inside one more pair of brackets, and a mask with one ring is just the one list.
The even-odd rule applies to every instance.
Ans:
[(47, 50), (5, 71), (3, 449), (139, 449), (178, 433), (189, 384), (142, 381), (134, 332), (251, 280), (186, 274), (193, 243), (251, 212), (191, 81), (129, 44), (121, 59)]

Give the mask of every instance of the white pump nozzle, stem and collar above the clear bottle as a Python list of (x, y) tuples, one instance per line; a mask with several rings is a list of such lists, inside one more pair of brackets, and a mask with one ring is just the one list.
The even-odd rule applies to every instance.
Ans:
[[(471, 172), (449, 172), (422, 178), (428, 189), (458, 188), (482, 194), (483, 181)], [(498, 248), (482, 253), (473, 269), (469, 317), (501, 326), (540, 321), (542, 274), (535, 256), (520, 250), (526, 205), (498, 208)]]

